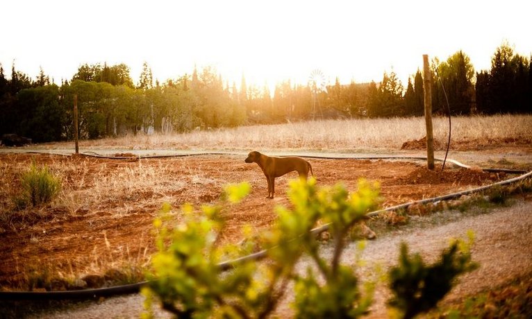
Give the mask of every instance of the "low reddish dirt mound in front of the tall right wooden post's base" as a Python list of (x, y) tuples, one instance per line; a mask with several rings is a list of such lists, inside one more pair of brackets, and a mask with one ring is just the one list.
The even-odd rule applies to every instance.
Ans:
[(444, 169), (441, 166), (433, 171), (426, 167), (419, 167), (408, 175), (398, 179), (404, 184), (459, 184), (483, 185), (504, 180), (505, 173), (488, 173), (480, 169)]

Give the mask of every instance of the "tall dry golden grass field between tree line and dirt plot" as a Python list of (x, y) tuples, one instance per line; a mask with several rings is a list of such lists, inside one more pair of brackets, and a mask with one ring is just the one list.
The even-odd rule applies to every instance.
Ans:
[[(532, 137), (532, 115), (452, 117), (451, 144), (489, 144)], [(447, 144), (448, 119), (433, 119), (435, 141)], [(179, 150), (367, 150), (399, 149), (426, 135), (423, 117), (305, 121), (242, 126), (172, 135), (127, 135), (81, 141), (81, 148)], [(72, 142), (70, 143), (72, 144)], [(61, 144), (56, 144), (60, 147)], [(50, 146), (47, 147), (56, 147)]]

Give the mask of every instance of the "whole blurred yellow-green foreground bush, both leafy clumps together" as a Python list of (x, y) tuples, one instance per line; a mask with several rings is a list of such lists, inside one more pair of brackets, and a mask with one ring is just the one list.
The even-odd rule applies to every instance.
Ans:
[[(376, 207), (378, 187), (360, 182), (358, 188), (349, 193), (341, 184), (317, 189), (313, 179), (290, 182), (288, 195), (294, 209), (279, 207), (277, 223), (260, 238), (270, 261), (244, 261), (224, 275), (219, 275), (218, 264), (235, 259), (239, 251), (233, 245), (217, 245), (223, 227), (221, 207), (203, 207), (200, 214), (185, 205), (185, 223), (173, 230), (163, 226), (168, 215), (163, 214), (154, 222), (158, 253), (148, 275), (152, 281), (144, 289), (147, 308), (151, 308), (152, 296), (157, 296), (163, 308), (178, 318), (265, 318), (294, 282), (298, 317), (360, 316), (369, 307), (371, 296), (360, 293), (354, 272), (340, 264), (340, 256), (349, 228)], [(226, 187), (224, 198), (237, 202), (247, 191), (249, 184)], [(169, 210), (168, 205), (163, 209)], [(310, 233), (320, 219), (331, 223), (329, 231), (335, 239), (331, 261), (319, 256), (319, 243)], [(306, 275), (295, 272), (303, 255), (310, 256), (319, 273), (311, 268)], [(313, 293), (307, 293), (309, 290)], [(315, 307), (317, 304), (320, 307)], [(302, 309), (306, 305), (313, 307)]]

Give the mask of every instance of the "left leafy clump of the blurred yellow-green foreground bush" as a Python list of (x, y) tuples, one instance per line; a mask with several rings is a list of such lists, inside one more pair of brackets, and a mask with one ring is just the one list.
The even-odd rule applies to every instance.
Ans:
[(231, 245), (217, 245), (223, 225), (221, 207), (204, 206), (201, 212), (194, 212), (192, 206), (184, 205), (184, 221), (173, 229), (165, 225), (170, 211), (169, 205), (163, 205), (161, 216), (153, 223), (158, 252), (153, 256), (153, 270), (147, 274), (149, 288), (143, 289), (147, 309), (151, 309), (152, 295), (178, 318), (205, 318), (216, 306), (226, 316), (242, 316), (258, 307), (261, 296), (253, 294), (258, 291), (258, 282), (252, 277), (257, 270), (254, 262), (219, 276), (219, 262), (236, 256)]

